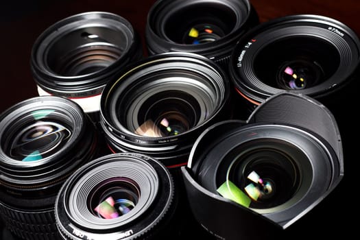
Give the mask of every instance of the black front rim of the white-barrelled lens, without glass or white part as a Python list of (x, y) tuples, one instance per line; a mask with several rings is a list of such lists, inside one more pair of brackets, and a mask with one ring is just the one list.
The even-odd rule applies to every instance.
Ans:
[[(108, 45), (122, 49), (121, 56), (104, 69), (92, 73), (67, 76), (51, 69), (47, 61), (53, 45), (62, 38), (67, 38), (73, 32), (78, 32), (80, 29), (88, 32), (88, 29), (92, 28), (102, 28), (121, 34), (126, 40), (125, 45), (121, 43), (119, 46), (119, 43), (115, 43), (112, 39), (110, 39), (110, 43), (105, 39), (97, 43), (97, 46), (106, 47)], [(54, 23), (38, 36), (32, 47), (31, 69), (38, 87), (51, 95), (69, 98), (89, 97), (101, 94), (109, 77), (116, 73), (119, 67), (141, 57), (142, 47), (139, 34), (135, 32), (128, 20), (111, 12), (82, 12)]]

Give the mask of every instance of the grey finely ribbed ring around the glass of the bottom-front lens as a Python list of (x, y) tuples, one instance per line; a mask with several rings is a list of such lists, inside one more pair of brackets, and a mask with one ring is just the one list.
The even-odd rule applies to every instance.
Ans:
[[(131, 158), (121, 160), (121, 164), (106, 160), (101, 162), (101, 165), (92, 165), (91, 169), (88, 169), (81, 178), (73, 179), (77, 183), (74, 184), (69, 193), (64, 193), (65, 195), (69, 194), (69, 199), (67, 200), (69, 208), (67, 211), (69, 211), (72, 221), (94, 230), (104, 230), (128, 224), (131, 219), (142, 215), (154, 202), (159, 184), (156, 174), (156, 171), (151, 166), (147, 166), (143, 162), (138, 163)], [(141, 193), (139, 202), (136, 203), (136, 206), (130, 213), (123, 215), (123, 217), (107, 219), (101, 222), (99, 217), (95, 216), (88, 209), (89, 191), (94, 189), (99, 182), (118, 178), (119, 176), (136, 182)]]

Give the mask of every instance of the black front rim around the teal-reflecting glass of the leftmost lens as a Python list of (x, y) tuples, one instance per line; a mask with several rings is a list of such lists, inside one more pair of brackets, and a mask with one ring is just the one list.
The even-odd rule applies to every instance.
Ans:
[[(19, 128), (19, 121), (32, 115), (32, 112), (49, 109), (58, 112), (58, 121), (64, 121), (70, 126), (71, 134), (67, 143), (41, 160), (22, 162), (8, 156), (3, 149), (3, 143), (8, 141), (6, 132), (13, 130), (16, 125)], [(41, 196), (44, 191), (50, 191), (78, 165), (97, 154), (97, 134), (91, 128), (95, 129), (95, 126), (82, 108), (64, 97), (32, 97), (14, 104), (0, 115), (1, 183), (14, 193), (27, 197)]]

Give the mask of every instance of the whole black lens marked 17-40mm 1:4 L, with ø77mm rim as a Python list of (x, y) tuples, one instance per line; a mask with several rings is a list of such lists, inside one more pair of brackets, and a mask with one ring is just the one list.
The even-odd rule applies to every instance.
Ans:
[(317, 15), (292, 15), (261, 23), (232, 52), (230, 78), (247, 102), (259, 105), (283, 91), (326, 104), (357, 74), (360, 42), (349, 27)]

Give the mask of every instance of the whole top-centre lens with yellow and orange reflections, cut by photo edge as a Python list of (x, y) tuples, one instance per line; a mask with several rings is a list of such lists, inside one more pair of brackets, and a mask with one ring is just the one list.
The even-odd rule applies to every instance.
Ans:
[(150, 55), (187, 51), (228, 69), (233, 46), (259, 19), (249, 1), (156, 1), (149, 10), (145, 39)]

